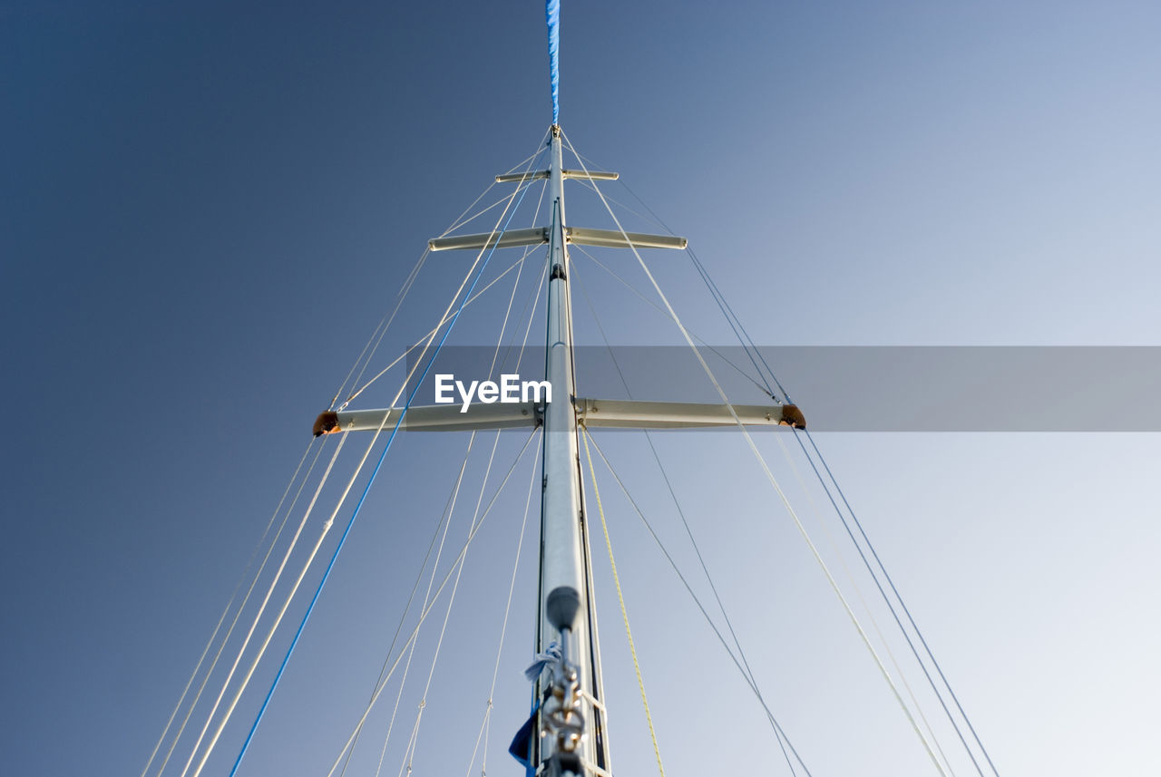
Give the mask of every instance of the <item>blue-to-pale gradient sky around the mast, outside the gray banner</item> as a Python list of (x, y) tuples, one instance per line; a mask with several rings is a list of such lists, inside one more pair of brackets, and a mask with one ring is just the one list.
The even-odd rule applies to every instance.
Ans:
[[(690, 238), (759, 343), (1161, 346), (1159, 7), (872, 6), (565, 0), (561, 123)], [(13, 416), (0, 770), (137, 775), (308, 424), (426, 239), (536, 150), (550, 119), (543, 10), (5, 2), (0, 63)], [(596, 212), (569, 202), (575, 222)], [(728, 343), (687, 260), (650, 261), (691, 326)], [(466, 267), (430, 259), (384, 353), (434, 322)], [(605, 293), (607, 278), (578, 269)], [(679, 342), (632, 296), (607, 295), (619, 342)], [(575, 305), (578, 336), (599, 343)], [(461, 342), (489, 342), (486, 310)], [(795, 400), (809, 417), (809, 398)], [(1002, 400), (979, 386), (981, 406)], [(643, 442), (599, 441), (678, 543)], [(498, 467), (520, 442), (504, 437)], [(1002, 774), (1161, 771), (1158, 435), (819, 442)], [(243, 775), (325, 774), (361, 711), (466, 440), (402, 443)], [(795, 493), (777, 441), (763, 445), (812, 515), (820, 495)], [(812, 772), (933, 774), (743, 443), (673, 435), (662, 456)], [(784, 774), (752, 697), (606, 481), (668, 771)], [(468, 774), (527, 482), (521, 465), (464, 572), (417, 771)], [(604, 551), (594, 559), (614, 767), (647, 774)], [(532, 601), (514, 604), (492, 774), (517, 774), (503, 749), (527, 705)], [(204, 774), (228, 772), (259, 700), (244, 697)], [(385, 717), (375, 725), (381, 738)], [(359, 774), (373, 774), (367, 757)]]

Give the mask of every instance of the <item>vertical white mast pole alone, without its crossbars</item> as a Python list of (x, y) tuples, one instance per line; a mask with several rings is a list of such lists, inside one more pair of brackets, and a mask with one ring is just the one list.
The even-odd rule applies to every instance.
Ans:
[(541, 700), (533, 764), (548, 774), (598, 774), (607, 770), (604, 738), (599, 736), (599, 685), (592, 608), (584, 543), (577, 417), (572, 398), (572, 317), (568, 288), (569, 257), (564, 239), (564, 172), (560, 126), (549, 140), (548, 326), (545, 379), (553, 401), (545, 408), (543, 481), (541, 494), (540, 623), (536, 651), (549, 642), (561, 647), (560, 669), (538, 687)]

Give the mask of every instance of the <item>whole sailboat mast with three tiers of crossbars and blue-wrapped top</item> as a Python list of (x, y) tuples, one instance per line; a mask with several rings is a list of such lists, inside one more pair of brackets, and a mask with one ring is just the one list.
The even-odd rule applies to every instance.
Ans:
[[(518, 407), (484, 405), (469, 413), (464, 405), (373, 411), (326, 411), (315, 421), (315, 436), (356, 429), (382, 429), (388, 419), (401, 428), (446, 430), (499, 429), (543, 424), (540, 508), (540, 569), (536, 594), (536, 663), (533, 711), (509, 750), (526, 764), (528, 777), (608, 777), (608, 734), (601, 688), (592, 564), (580, 487), (579, 424), (613, 428), (693, 428), (756, 424), (805, 426), (793, 405), (717, 406), (683, 402), (577, 398), (572, 350), (572, 307), (569, 293), (569, 244), (606, 248), (686, 247), (676, 235), (567, 226), (564, 180), (615, 181), (616, 173), (565, 170), (564, 137), (557, 123), (558, 0), (548, 0), (549, 55), (553, 81), (553, 124), (548, 170), (497, 175), (498, 183), (527, 186), (548, 179), (551, 220), (547, 227), (503, 230), (482, 234), (441, 235), (431, 250), (548, 245), (550, 267), (545, 333), (545, 382), (548, 397), (522, 400)], [(437, 402), (441, 400), (437, 395)], [(598, 408), (604, 411), (597, 415)]]

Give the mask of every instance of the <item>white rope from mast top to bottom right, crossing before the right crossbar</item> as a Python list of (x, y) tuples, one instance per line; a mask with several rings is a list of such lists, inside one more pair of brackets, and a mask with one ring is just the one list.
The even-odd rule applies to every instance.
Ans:
[[(562, 132), (562, 136), (563, 136), (563, 132)], [(565, 138), (565, 143), (569, 144), (569, 150), (572, 151), (574, 154), (576, 154), (576, 150), (572, 148), (572, 144), (567, 138)], [(579, 160), (579, 157), (578, 157), (578, 160)], [(580, 166), (582, 166), (582, 169), (584, 169), (584, 161), (583, 160), (580, 160)], [(586, 169), (584, 172), (585, 172), (585, 174), (587, 174)], [(714, 390), (717, 392), (717, 395), (721, 397), (722, 402), (726, 405), (727, 409), (729, 411), (730, 416), (734, 419), (734, 422), (737, 424), (738, 430), (742, 433), (742, 436), (745, 438), (745, 442), (749, 445), (750, 451), (753, 453), (755, 459), (758, 462), (759, 466), (763, 470), (763, 473), (766, 475), (766, 480), (770, 481), (770, 485), (771, 485), (771, 487), (773, 487), (774, 493), (778, 494), (778, 498), (781, 500), (783, 504), (786, 507), (786, 511), (794, 520), (794, 524), (798, 527), (799, 533), (802, 536), (802, 539), (806, 542), (807, 546), (810, 549), (810, 553), (814, 555), (814, 558), (817, 561), (817, 564), (819, 564), (820, 568), (822, 569), (823, 574), (827, 576), (827, 580), (829, 581), (830, 587), (831, 587), (831, 589), (835, 593), (835, 596), (837, 596), (838, 600), (839, 600), (839, 602), (842, 603), (843, 609), (846, 611), (848, 617), (851, 619), (851, 623), (854, 625), (856, 631), (858, 631), (859, 637), (863, 639), (863, 644), (866, 646), (867, 651), (871, 653), (871, 656), (874, 659), (875, 665), (879, 667), (879, 671), (882, 674), (884, 680), (886, 680), (887, 684), (890, 687), (892, 692), (895, 695), (895, 699), (899, 702), (900, 707), (903, 710), (903, 714), (907, 716), (907, 719), (910, 721), (911, 727), (915, 729), (916, 736), (920, 738), (920, 741), (923, 743), (923, 748), (926, 750), (928, 756), (931, 758), (931, 763), (935, 764), (935, 767), (939, 771), (939, 774), (942, 774), (942, 775), (946, 774), (944, 771), (943, 767), (940, 765), (939, 760), (936, 757), (935, 753), (931, 750), (931, 745), (928, 742), (926, 738), (923, 735), (923, 732), (920, 729), (918, 724), (916, 724), (915, 718), (911, 716), (910, 710), (907, 707), (907, 704), (903, 702), (902, 696), (900, 696), (899, 688), (896, 688), (894, 680), (892, 678), (890, 674), (887, 671), (887, 667), (882, 662), (882, 659), (879, 658), (879, 654), (875, 652), (874, 646), (871, 644), (871, 640), (867, 637), (866, 631), (864, 631), (864, 629), (863, 629), (863, 624), (859, 623), (859, 619), (858, 619), (858, 617), (856, 617), (854, 611), (851, 609), (850, 603), (846, 601), (846, 597), (843, 596), (842, 590), (838, 588), (838, 583), (835, 581), (834, 575), (830, 573), (830, 569), (827, 567), (827, 562), (823, 561), (822, 555), (819, 553), (819, 549), (815, 547), (814, 540), (810, 539), (809, 532), (807, 532), (806, 527), (802, 524), (802, 521), (799, 518), (798, 514), (794, 511), (793, 506), (791, 506), (789, 500), (786, 498), (786, 494), (783, 492), (781, 486), (778, 484), (778, 480), (774, 478), (774, 473), (771, 472), (770, 466), (766, 464), (766, 459), (762, 456), (762, 452), (758, 450), (758, 446), (755, 444), (753, 438), (750, 436), (750, 433), (747, 430), (745, 424), (742, 423), (742, 420), (738, 417), (737, 413), (734, 411), (734, 405), (730, 404), (729, 398), (726, 395), (726, 392), (721, 387), (721, 384), (717, 383), (717, 378), (714, 376), (713, 371), (709, 369), (709, 365), (706, 364), (705, 358), (701, 356), (701, 351), (698, 350), (698, 347), (694, 344), (693, 339), (690, 337), (690, 333), (686, 331), (685, 326), (682, 324), (682, 319), (677, 315), (677, 311), (675, 311), (673, 306), (669, 303), (669, 298), (665, 297), (665, 292), (663, 292), (661, 290), (661, 286), (657, 284), (656, 278), (654, 278), (652, 273), (649, 271), (649, 267), (646, 264), (644, 259), (642, 259), (641, 253), (637, 250), (636, 246), (634, 246), (632, 244), (632, 241), (628, 239), (628, 235), (625, 232), (625, 227), (621, 226), (621, 222), (616, 218), (616, 215), (613, 212), (613, 209), (610, 208), (608, 203), (605, 201), (605, 196), (601, 194), (600, 189), (596, 184), (593, 186), (593, 191), (596, 191), (597, 196), (600, 197), (601, 203), (605, 205), (605, 210), (608, 211), (610, 218), (613, 219), (613, 223), (616, 225), (618, 231), (620, 231), (621, 234), (625, 237), (626, 242), (629, 246), (629, 249), (633, 252), (633, 255), (636, 257), (637, 263), (641, 266), (641, 269), (646, 274), (646, 277), (649, 278), (649, 282), (652, 284), (654, 290), (657, 292), (657, 296), (661, 298), (662, 303), (665, 305), (665, 310), (669, 311), (670, 317), (673, 319), (673, 324), (677, 325), (677, 328), (682, 333), (682, 336), (685, 339), (685, 342), (690, 346), (690, 349), (693, 351), (693, 355), (697, 357), (698, 362), (701, 364), (701, 369), (705, 371), (706, 377), (709, 378), (709, 382), (713, 384)]]

